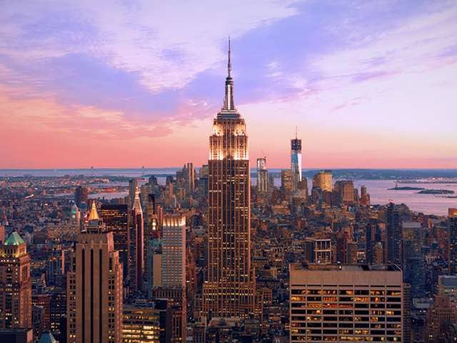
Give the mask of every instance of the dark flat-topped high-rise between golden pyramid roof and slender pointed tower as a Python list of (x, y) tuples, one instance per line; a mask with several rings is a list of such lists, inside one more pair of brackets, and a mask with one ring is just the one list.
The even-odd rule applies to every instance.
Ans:
[(129, 207), (126, 204), (102, 204), (100, 217), (106, 232), (113, 232), (114, 249), (124, 266), (124, 279), (129, 271)]

